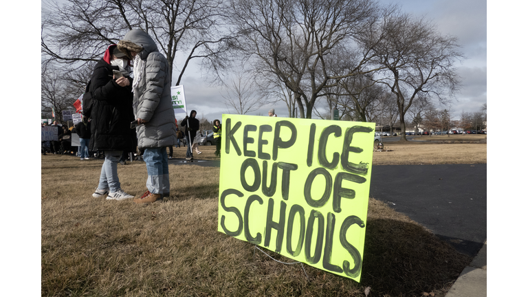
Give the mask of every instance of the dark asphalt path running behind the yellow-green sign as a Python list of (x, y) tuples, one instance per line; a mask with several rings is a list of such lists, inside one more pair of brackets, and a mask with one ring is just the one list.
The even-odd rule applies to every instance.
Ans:
[[(169, 164), (220, 166), (219, 160)], [(476, 256), (487, 239), (486, 164), (373, 166), (370, 196), (408, 215), (457, 251)]]

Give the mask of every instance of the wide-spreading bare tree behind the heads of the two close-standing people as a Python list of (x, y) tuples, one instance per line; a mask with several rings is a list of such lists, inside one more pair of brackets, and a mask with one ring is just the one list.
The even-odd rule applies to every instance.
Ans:
[[(45, 61), (70, 68), (98, 61), (111, 43), (131, 29), (151, 34), (173, 69), (186, 55), (175, 85), (192, 58), (218, 72), (227, 65), (232, 36), (220, 30), (223, 0), (64, 0), (43, 2), (41, 51)], [(186, 54), (183, 54), (183, 53)]]

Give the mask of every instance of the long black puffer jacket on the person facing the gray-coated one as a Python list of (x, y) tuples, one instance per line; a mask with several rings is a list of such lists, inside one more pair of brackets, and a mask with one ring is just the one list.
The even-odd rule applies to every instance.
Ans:
[[(111, 52), (111, 45), (107, 52)], [(132, 107), (132, 79), (130, 85), (121, 87), (113, 79), (112, 70), (119, 67), (107, 62), (107, 54), (94, 68), (90, 91), (94, 98), (91, 111), (91, 151), (135, 151), (137, 140), (135, 129), (130, 129), (134, 120)]]

